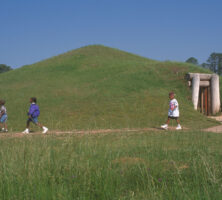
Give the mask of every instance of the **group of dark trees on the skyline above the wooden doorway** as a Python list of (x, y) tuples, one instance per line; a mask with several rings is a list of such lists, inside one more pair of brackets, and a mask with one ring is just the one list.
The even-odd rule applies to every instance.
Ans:
[(222, 53), (212, 53), (206, 62), (199, 64), (198, 60), (194, 57), (188, 58), (185, 62), (201, 66), (209, 69), (216, 74), (222, 75)]

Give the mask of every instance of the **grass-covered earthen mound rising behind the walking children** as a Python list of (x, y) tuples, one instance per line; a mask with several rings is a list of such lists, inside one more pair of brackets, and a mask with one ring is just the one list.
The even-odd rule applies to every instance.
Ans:
[(1, 74), (0, 94), (11, 131), (23, 130), (31, 96), (51, 130), (160, 126), (172, 90), (183, 126), (212, 126), (214, 121), (193, 111), (187, 72), (206, 70), (95, 45)]

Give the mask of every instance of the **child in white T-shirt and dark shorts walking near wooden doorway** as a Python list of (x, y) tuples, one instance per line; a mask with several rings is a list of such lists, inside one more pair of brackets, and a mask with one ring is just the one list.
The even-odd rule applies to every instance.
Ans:
[(170, 99), (170, 102), (169, 102), (169, 110), (168, 110), (168, 119), (166, 121), (166, 124), (162, 125), (161, 128), (167, 130), (170, 120), (175, 119), (177, 122), (176, 130), (181, 130), (182, 127), (180, 126), (180, 121), (179, 121), (179, 116), (180, 116), (179, 104), (177, 100), (175, 99), (174, 92), (169, 93), (169, 99)]

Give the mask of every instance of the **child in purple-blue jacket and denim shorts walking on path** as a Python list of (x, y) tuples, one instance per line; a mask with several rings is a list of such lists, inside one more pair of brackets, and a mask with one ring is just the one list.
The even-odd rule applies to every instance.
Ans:
[(36, 97), (31, 97), (30, 98), (30, 108), (29, 108), (29, 112), (28, 112), (28, 120), (27, 120), (27, 124), (26, 124), (26, 129), (22, 132), (22, 133), (29, 133), (29, 125), (30, 122), (34, 123), (35, 125), (39, 126), (40, 128), (43, 129), (42, 133), (47, 133), (48, 128), (41, 125), (38, 122), (38, 116), (40, 115), (40, 110), (39, 110), (39, 106), (36, 104), (37, 103), (37, 98)]

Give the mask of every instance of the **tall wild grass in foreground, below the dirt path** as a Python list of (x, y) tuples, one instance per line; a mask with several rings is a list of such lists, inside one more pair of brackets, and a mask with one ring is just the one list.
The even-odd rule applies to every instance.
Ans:
[(0, 140), (0, 199), (221, 199), (222, 135), (147, 132)]

